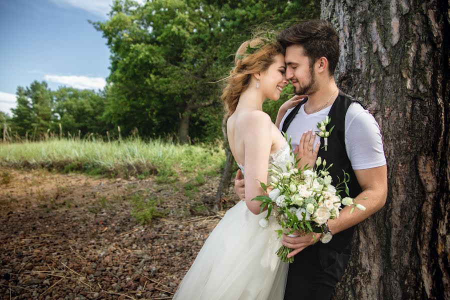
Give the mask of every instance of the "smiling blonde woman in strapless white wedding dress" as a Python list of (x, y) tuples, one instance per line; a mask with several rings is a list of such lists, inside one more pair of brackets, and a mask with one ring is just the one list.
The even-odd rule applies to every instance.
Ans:
[[(279, 225), (271, 216), (268, 227), (261, 227), (258, 222), (265, 213), (260, 214), (260, 202), (251, 201), (263, 193), (259, 182), (267, 182), (268, 166), (292, 159), (288, 143), (262, 111), (263, 101), (278, 100), (287, 84), (283, 50), (276, 42), (255, 36), (239, 46), (234, 64), (221, 99), (229, 115), (229, 146), (245, 178), (245, 198), (212, 230), (173, 299), (283, 298), (288, 265), (275, 253), (281, 245), (274, 232)], [(294, 96), (288, 101), (296, 100)], [(303, 133), (302, 140), (301, 163), (313, 165), (318, 145), (313, 151), (303, 150), (303, 145), (312, 148), (311, 131)]]

